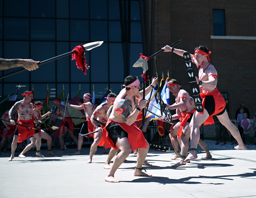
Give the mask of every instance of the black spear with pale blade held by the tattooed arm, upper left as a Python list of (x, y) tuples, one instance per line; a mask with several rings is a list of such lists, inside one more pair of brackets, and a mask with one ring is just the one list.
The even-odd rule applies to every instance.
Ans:
[[(103, 43), (103, 41), (96, 41), (96, 42), (91, 42), (91, 43), (87, 43), (87, 44), (84, 44), (82, 45), (84, 50), (91, 50), (95, 47), (98, 47), (100, 46), (101, 44)], [(38, 65), (42, 65), (42, 64), (45, 64), (45, 63), (48, 63), (48, 62), (51, 62), (51, 61), (54, 61), (54, 60), (57, 60), (59, 58), (62, 58), (62, 57), (65, 57), (65, 56), (68, 56), (68, 55), (71, 55), (73, 53), (76, 53), (77, 51), (71, 51), (71, 52), (68, 52), (68, 53), (65, 53), (65, 54), (61, 54), (59, 56), (56, 56), (56, 57), (53, 57), (53, 58), (50, 58), (48, 60), (45, 60), (45, 61), (42, 61), (42, 62), (39, 62)], [(73, 60), (73, 59), (72, 59)], [(16, 73), (19, 73), (19, 72), (22, 72), (22, 71), (26, 71), (27, 69), (23, 68), (23, 69), (20, 69), (20, 70), (17, 70), (15, 72), (12, 72), (12, 73), (9, 73), (9, 74), (6, 74), (6, 75), (3, 75), (0, 77), (0, 79), (3, 79), (5, 77), (8, 77), (8, 76), (11, 76), (13, 74), (16, 74)]]

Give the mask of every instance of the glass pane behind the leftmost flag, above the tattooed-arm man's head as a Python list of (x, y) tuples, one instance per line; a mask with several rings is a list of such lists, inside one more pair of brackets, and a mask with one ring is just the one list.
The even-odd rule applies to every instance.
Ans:
[(17, 90), (19, 84), (20, 84), (20, 88), (19, 88), (19, 92), (18, 92), (16, 100), (17, 101), (22, 100), (24, 98), (22, 94), (25, 91), (32, 90), (32, 87), (30, 90), (29, 84), (27, 84), (27, 83), (5, 83), (4, 84), (4, 95), (10, 94), (10, 93), (14, 92), (15, 90)]

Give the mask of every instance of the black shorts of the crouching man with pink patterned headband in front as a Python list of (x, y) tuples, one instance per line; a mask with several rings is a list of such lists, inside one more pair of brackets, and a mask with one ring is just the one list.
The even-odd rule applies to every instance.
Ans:
[(117, 139), (120, 138), (128, 138), (128, 133), (119, 125), (116, 123), (110, 123), (108, 125), (108, 128), (106, 128), (108, 131), (108, 136), (109, 138), (113, 141), (114, 146), (117, 142)]

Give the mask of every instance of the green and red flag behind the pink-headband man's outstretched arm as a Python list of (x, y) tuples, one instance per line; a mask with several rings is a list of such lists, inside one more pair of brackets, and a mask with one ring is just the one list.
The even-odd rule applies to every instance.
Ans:
[[(81, 89), (79, 88), (79, 90), (77, 92), (77, 95), (75, 97), (73, 97), (72, 100), (69, 101), (69, 104), (80, 106), (82, 104), (80, 98), (81, 98)], [(82, 115), (84, 115), (84, 110), (83, 109), (77, 110), (77, 109), (74, 109), (70, 106), (67, 106), (67, 109), (68, 109), (70, 117), (78, 117), (79, 118)], [(81, 122), (83, 122), (83, 120), (84, 119), (72, 118), (72, 121), (73, 121), (74, 125), (80, 124)]]

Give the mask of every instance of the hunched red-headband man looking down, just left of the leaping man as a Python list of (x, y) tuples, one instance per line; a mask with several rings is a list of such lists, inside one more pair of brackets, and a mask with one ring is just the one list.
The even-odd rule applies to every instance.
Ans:
[[(172, 119), (180, 118), (180, 122), (179, 124), (176, 124), (177, 126), (174, 126), (174, 130), (177, 132), (176, 135), (180, 143), (181, 155), (179, 156), (180, 161), (172, 166), (178, 167), (181, 165), (185, 165), (185, 163), (182, 164), (181, 162), (188, 155), (188, 139), (190, 137), (189, 123), (195, 112), (195, 108), (193, 98), (189, 96), (188, 92), (186, 92), (183, 89), (180, 89), (178, 82), (175, 79), (170, 79), (166, 83), (166, 85), (169, 91), (172, 92), (173, 95), (176, 97), (176, 103), (174, 103), (173, 105), (166, 104), (166, 107), (168, 109), (176, 109), (176, 114), (173, 115)], [(198, 144), (206, 151), (206, 157), (204, 158), (211, 158), (212, 156), (206, 144), (203, 144), (202, 142), (204, 143), (203, 140), (199, 140)]]

